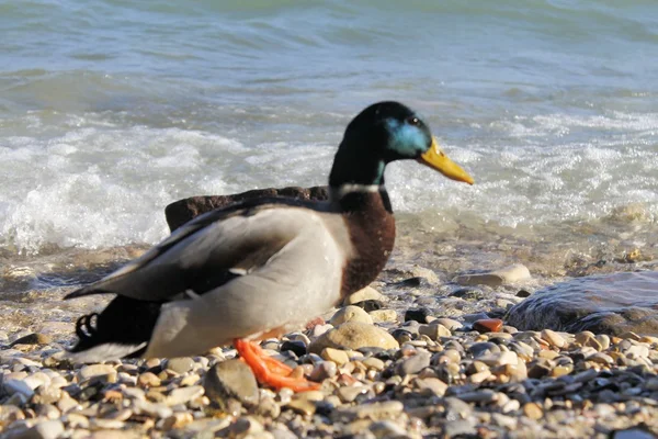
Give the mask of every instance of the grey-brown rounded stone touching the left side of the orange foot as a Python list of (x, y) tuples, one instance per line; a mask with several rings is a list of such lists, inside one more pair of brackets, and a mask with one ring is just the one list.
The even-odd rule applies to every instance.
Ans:
[(240, 360), (222, 361), (211, 368), (203, 381), (206, 396), (226, 408), (228, 398), (250, 407), (258, 404), (260, 393), (253, 372)]

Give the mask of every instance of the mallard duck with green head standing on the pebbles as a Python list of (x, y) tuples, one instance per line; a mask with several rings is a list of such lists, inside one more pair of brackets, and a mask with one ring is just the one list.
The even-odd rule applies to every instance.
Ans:
[(395, 240), (384, 170), (405, 159), (473, 183), (413, 111), (373, 104), (345, 130), (329, 201), (264, 198), (208, 212), (68, 294), (116, 294), (78, 319), (72, 359), (183, 357), (232, 342), (261, 383), (315, 389), (256, 341), (298, 328), (375, 280)]

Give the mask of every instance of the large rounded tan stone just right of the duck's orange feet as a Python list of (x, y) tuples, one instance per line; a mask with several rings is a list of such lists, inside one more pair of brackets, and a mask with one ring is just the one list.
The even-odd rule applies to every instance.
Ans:
[(314, 353), (321, 353), (325, 348), (355, 350), (366, 347), (394, 349), (398, 348), (399, 345), (384, 329), (360, 322), (347, 322), (338, 328), (325, 333), (310, 344), (308, 350)]

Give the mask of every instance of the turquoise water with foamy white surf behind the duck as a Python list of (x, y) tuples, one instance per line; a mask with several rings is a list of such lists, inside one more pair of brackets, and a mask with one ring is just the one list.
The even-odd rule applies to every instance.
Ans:
[(392, 166), (424, 227), (657, 245), (655, 1), (2, 0), (0, 38), (5, 261), (156, 243), (183, 196), (322, 184), (384, 99), (476, 178)]

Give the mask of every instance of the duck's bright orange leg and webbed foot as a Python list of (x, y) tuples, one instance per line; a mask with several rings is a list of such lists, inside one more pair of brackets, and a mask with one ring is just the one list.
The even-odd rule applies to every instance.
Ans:
[(320, 387), (318, 383), (303, 378), (290, 378), (293, 371), (291, 368), (268, 356), (251, 341), (235, 339), (234, 347), (261, 384), (268, 384), (274, 389), (288, 387), (294, 392), (314, 391)]

